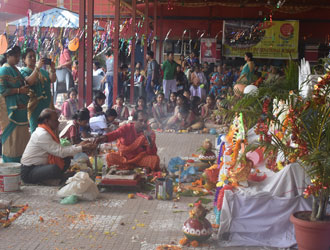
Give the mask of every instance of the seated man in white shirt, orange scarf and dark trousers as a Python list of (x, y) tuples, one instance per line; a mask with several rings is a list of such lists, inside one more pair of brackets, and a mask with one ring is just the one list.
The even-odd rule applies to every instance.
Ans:
[(70, 159), (80, 152), (96, 149), (96, 144), (82, 142), (62, 147), (56, 134), (59, 121), (55, 110), (44, 109), (38, 118), (38, 127), (31, 135), (22, 159), (21, 178), (25, 183), (59, 184)]

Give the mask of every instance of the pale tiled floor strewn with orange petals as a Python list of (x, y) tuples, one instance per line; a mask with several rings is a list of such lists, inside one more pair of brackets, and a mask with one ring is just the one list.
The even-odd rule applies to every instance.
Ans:
[[(157, 134), (162, 163), (167, 164), (174, 156), (196, 153), (205, 137), (212, 141), (215, 138), (201, 134)], [(128, 199), (127, 194), (135, 190), (110, 189), (101, 193), (95, 202), (60, 205), (55, 187), (23, 186), (21, 189), (21, 192), (0, 193), (0, 199), (29, 204), (29, 209), (10, 227), (0, 228), (0, 249), (155, 250), (160, 244), (178, 244), (183, 237), (182, 225), (188, 218), (188, 204), (196, 201), (192, 197), (182, 197), (179, 202)], [(214, 222), (212, 213), (208, 218)], [(216, 234), (198, 249), (220, 249)]]

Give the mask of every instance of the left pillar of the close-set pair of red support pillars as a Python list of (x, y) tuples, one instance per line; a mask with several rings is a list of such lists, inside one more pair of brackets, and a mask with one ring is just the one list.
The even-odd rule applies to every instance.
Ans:
[[(85, 28), (86, 0), (79, 1), (79, 29)], [(79, 108), (84, 106), (84, 87), (85, 87), (85, 34), (79, 41), (78, 49), (78, 101)]]

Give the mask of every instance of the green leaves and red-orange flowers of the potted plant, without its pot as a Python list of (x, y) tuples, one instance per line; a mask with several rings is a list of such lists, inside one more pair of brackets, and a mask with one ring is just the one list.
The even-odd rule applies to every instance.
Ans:
[[(325, 220), (330, 195), (330, 73), (315, 85), (311, 97), (303, 99), (291, 92), (287, 103), (285, 121), (264, 112), (267, 122), (258, 126), (263, 140), (249, 145), (247, 151), (262, 147), (265, 155), (280, 151), (283, 165), (298, 162), (311, 178), (304, 192), (313, 197), (310, 219)], [(268, 130), (271, 123), (277, 131)]]

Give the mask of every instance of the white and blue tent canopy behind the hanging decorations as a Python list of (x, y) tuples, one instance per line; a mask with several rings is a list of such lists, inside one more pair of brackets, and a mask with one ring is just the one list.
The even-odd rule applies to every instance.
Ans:
[[(10, 22), (9, 25), (27, 26), (28, 18), (18, 19)], [(33, 14), (30, 26), (79, 28), (79, 15), (68, 10), (53, 8)]]

